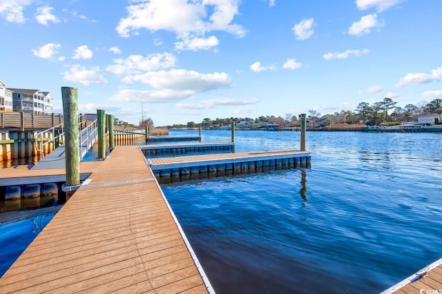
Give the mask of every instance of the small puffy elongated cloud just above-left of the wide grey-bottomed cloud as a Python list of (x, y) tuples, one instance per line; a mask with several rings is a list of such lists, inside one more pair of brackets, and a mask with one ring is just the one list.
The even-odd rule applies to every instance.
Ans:
[(147, 55), (130, 55), (126, 59), (113, 59), (113, 65), (108, 66), (106, 70), (117, 75), (138, 74), (151, 70), (162, 70), (175, 66), (177, 59), (171, 53), (157, 53)]

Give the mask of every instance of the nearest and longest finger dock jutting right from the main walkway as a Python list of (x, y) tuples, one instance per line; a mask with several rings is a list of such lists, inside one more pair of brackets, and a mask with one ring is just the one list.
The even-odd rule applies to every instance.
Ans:
[(183, 180), (201, 175), (239, 175), (271, 169), (308, 168), (311, 166), (311, 154), (308, 151), (278, 150), (151, 158), (146, 161), (158, 179), (180, 177)]

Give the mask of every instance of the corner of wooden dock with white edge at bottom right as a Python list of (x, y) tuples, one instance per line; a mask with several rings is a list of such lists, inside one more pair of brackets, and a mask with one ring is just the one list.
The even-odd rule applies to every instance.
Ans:
[(436, 294), (442, 293), (442, 258), (421, 271), (388, 288), (381, 294)]

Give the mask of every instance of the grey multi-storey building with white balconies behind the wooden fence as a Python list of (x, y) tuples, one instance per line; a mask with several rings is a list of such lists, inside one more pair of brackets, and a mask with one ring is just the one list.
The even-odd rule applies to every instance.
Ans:
[(54, 112), (53, 99), (49, 92), (35, 89), (9, 88), (12, 91), (14, 111), (44, 115)]

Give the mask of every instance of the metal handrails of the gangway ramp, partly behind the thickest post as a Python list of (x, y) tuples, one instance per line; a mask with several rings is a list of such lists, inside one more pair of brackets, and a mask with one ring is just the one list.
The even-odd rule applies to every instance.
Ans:
[[(80, 159), (88, 153), (88, 150), (93, 146), (95, 141), (97, 140), (98, 131), (97, 131), (97, 119), (92, 121), (90, 124), (86, 126), (88, 123), (88, 115), (79, 115), (79, 155)], [(52, 138), (44, 140), (45, 133), (52, 133)], [(44, 150), (47, 144), (54, 142), (58, 139), (60, 144), (64, 142), (64, 123), (58, 124), (57, 126), (53, 126), (52, 128), (48, 128), (46, 130), (41, 131), (35, 135), (35, 149), (41, 154), (42, 157), (45, 156)]]

